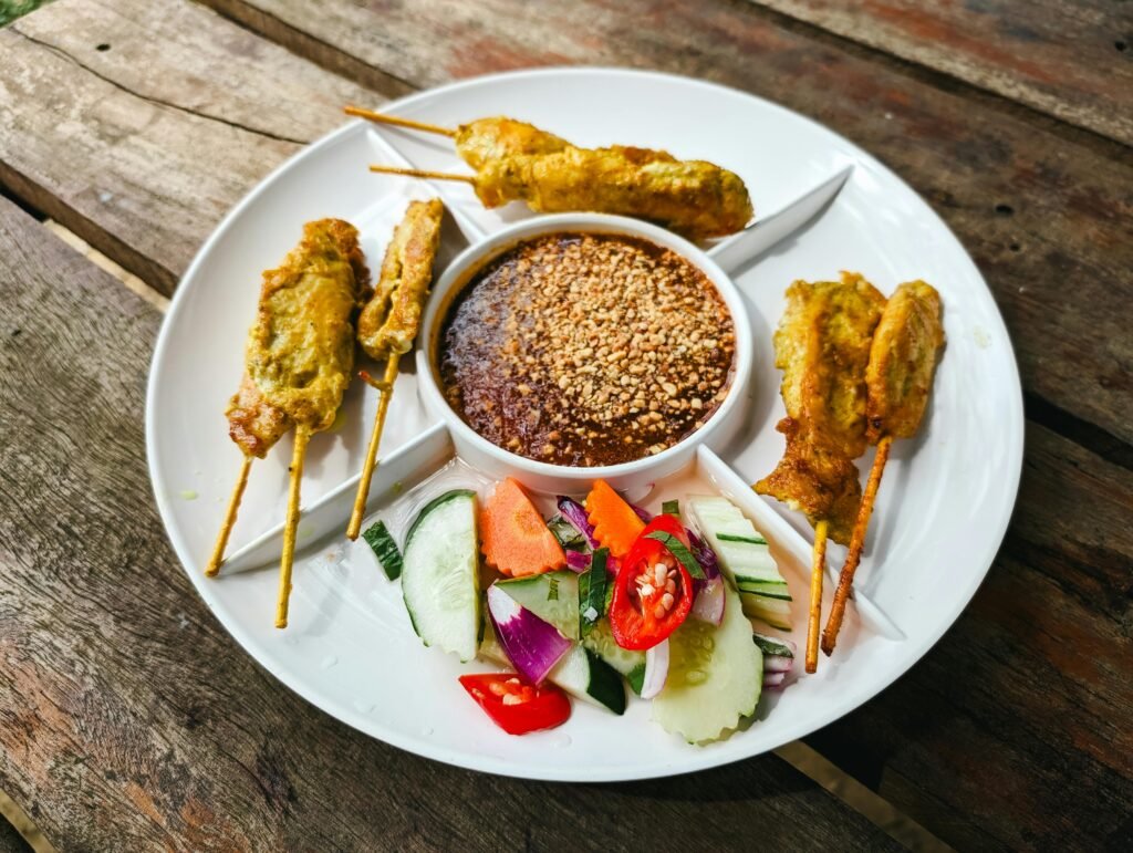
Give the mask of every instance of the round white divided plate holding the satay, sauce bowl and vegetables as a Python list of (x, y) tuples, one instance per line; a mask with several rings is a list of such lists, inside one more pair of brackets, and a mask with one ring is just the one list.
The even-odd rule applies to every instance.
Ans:
[[(279, 262), (305, 221), (322, 216), (358, 225), (376, 268), (407, 198), (434, 190), (370, 174), (367, 165), (400, 153), (420, 168), (463, 169), (444, 138), (355, 122), (283, 164), (225, 217), (186, 273), (154, 355), (146, 428), (157, 504), (186, 571), (237, 641), (300, 696), (369, 735), (474, 769), (562, 781), (662, 776), (755, 756), (838, 718), (915, 663), (983, 579), (1011, 515), (1023, 452), (1019, 374), (1003, 322), (979, 271), (928, 205), (869, 154), (819, 125), (750, 95), (679, 77), (523, 71), (433, 89), (387, 110), (449, 126), (503, 113), (579, 144), (640, 144), (712, 160), (741, 174), (757, 214), (780, 208), (847, 162), (857, 165), (817, 222), (736, 276), (756, 340), (750, 424), (721, 453), (735, 475), (704, 450), (690, 476), (736, 496), (743, 492), (757, 522), (765, 515), (775, 520), (781, 552), (804, 557), (804, 522), (746, 489), (772, 469), (783, 446), (774, 430), (782, 404), (770, 340), (783, 291), (794, 279), (826, 279), (840, 270), (862, 272), (885, 293), (910, 279), (934, 283), (944, 299), (947, 349), (919, 436), (894, 447), (857, 581), (904, 639), (886, 639), (851, 617), (837, 654), (821, 660), (817, 675), (798, 679), (761, 705), (760, 718), (746, 731), (707, 747), (666, 735), (648, 722), (647, 705), (633, 700), (620, 718), (574, 702), (566, 725), (510, 737), (457, 683), (460, 672), (486, 667), (461, 666), (425, 649), (397, 585), (384, 580), (364, 546), (347, 547), (338, 535), (313, 541), (300, 524), (306, 549), (296, 565), (287, 631), (272, 628), (273, 569), (202, 577), (240, 461), (223, 410), (240, 377), (261, 271)], [(461, 185), (438, 188), (469, 231), (489, 232), (530, 215), (518, 205), (484, 211)], [(459, 234), (449, 234), (444, 251), (459, 248)], [(408, 359), (403, 367), (411, 369)], [(374, 404), (374, 394), (355, 383), (343, 426), (312, 442), (305, 504), (357, 472)], [(411, 372), (398, 379), (393, 411), (383, 455), (429, 426)], [(446, 442), (441, 429), (415, 446), (435, 460), (446, 455)], [(284, 440), (253, 467), (231, 549), (282, 518), (289, 458)], [(412, 470), (411, 461), (399, 469)], [(470, 470), (444, 476), (483, 485)], [(662, 496), (648, 501), (656, 505)], [(832, 547), (830, 563), (837, 565), (841, 556), (842, 549)], [(798, 562), (785, 560), (801, 626), (806, 580)]]

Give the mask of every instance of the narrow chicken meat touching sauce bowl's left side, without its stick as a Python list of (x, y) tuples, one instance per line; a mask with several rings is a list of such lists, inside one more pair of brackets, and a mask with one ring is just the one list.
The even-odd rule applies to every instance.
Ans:
[(433, 282), (443, 215), (440, 198), (411, 202), (393, 231), (377, 288), (358, 317), (358, 342), (375, 360), (400, 356), (414, 347)]

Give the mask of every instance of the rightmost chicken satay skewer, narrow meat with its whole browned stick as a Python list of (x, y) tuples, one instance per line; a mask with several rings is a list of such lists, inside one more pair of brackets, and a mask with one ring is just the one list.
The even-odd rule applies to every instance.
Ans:
[(833, 654), (842, 629), (853, 575), (861, 562), (869, 519), (893, 440), (910, 438), (920, 427), (943, 346), (939, 293), (922, 281), (898, 287), (885, 306), (869, 351), (866, 438), (870, 444), (877, 444), (877, 455), (858, 507), (845, 563), (834, 591), (834, 604), (823, 631), (823, 651), (826, 655)]

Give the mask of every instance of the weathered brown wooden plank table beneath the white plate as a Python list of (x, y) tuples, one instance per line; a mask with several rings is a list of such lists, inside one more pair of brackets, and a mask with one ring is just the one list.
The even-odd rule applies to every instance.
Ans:
[[(565, 786), (368, 740), (236, 646), (153, 504), (151, 349), (220, 216), (342, 103), (553, 63), (718, 80), (846, 135), (956, 231), (1013, 335), (1026, 460), (987, 581), (912, 672), (778, 754)], [(17, 20), (0, 790), (75, 850), (1130, 850), (1131, 145), (1133, 6), (1107, 0), (57, 0)]]

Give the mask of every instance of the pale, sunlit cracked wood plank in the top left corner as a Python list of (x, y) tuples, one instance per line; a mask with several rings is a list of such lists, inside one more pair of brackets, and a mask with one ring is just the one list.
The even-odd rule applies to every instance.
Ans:
[(178, 0), (52, 3), (0, 31), (0, 184), (165, 293), (220, 217), (361, 96)]

